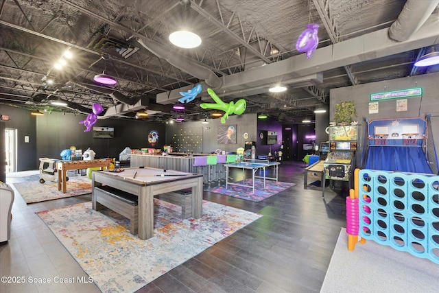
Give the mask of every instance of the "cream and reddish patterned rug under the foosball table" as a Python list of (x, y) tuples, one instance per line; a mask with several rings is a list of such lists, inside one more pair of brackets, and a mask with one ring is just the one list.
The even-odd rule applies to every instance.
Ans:
[(62, 193), (62, 190), (58, 190), (58, 183), (56, 182), (27, 181), (12, 184), (27, 204), (91, 194), (91, 179), (86, 176), (69, 177), (65, 194)]

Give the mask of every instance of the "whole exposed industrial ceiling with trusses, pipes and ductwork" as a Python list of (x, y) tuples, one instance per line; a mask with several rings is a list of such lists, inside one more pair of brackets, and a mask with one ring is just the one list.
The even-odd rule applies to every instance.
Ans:
[[(4, 1), (0, 14), (0, 104), (91, 113), (106, 119), (165, 122), (205, 119), (210, 87), (224, 102), (246, 99), (246, 113), (302, 121), (342, 86), (426, 74), (414, 62), (439, 43), (439, 0), (388, 1)], [(379, 14), (377, 14), (379, 11)], [(311, 58), (294, 44), (320, 25)], [(169, 34), (183, 25), (202, 43), (180, 48)], [(64, 69), (55, 62), (68, 51)], [(117, 80), (94, 84), (102, 73)], [(53, 82), (49, 84), (49, 81)], [(202, 84), (184, 113), (172, 104)], [(284, 93), (270, 93), (282, 84)], [(326, 105), (325, 105), (326, 104)]]

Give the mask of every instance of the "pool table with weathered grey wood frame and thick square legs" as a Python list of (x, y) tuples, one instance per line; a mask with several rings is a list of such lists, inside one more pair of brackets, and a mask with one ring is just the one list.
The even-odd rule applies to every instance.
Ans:
[(154, 236), (154, 196), (172, 191), (191, 188), (192, 218), (202, 215), (202, 174), (157, 169), (153, 167), (130, 167), (117, 170), (93, 172), (92, 199), (93, 209), (97, 210), (95, 187), (107, 185), (137, 196), (138, 231), (140, 239)]

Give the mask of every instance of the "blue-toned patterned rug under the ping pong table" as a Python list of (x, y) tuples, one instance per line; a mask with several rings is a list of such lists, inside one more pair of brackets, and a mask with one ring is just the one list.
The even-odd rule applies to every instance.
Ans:
[[(252, 179), (246, 179), (245, 185), (252, 185)], [(238, 184), (243, 184), (242, 181), (238, 181)], [(208, 189), (204, 189), (204, 191), (213, 192), (215, 194), (224, 194), (224, 196), (232, 196), (233, 198), (241, 198), (243, 200), (251, 200), (252, 202), (260, 202), (261, 200), (265, 200), (265, 198), (270, 198), (270, 196), (274, 196), (274, 194), (278, 194), (279, 192), (288, 189), (296, 185), (296, 183), (287, 183), (274, 180), (265, 180), (265, 188), (263, 187), (263, 179), (254, 179), (254, 194), (252, 194), (252, 187), (244, 187), (238, 185), (218, 185), (215, 187), (209, 187)]]

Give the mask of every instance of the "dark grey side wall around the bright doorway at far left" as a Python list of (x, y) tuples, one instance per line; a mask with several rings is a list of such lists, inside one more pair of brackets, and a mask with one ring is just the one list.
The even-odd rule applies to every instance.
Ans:
[[(5, 128), (15, 128), (17, 130), (17, 171), (36, 169), (36, 117), (30, 115), (31, 111), (12, 106), (0, 105), (0, 114), (8, 115), (10, 120), (3, 124)], [(5, 130), (1, 130), (4, 137)], [(25, 136), (29, 136), (29, 142), (25, 143)], [(1, 139), (3, 145), (4, 138)], [(3, 152), (4, 152), (3, 146)]]

